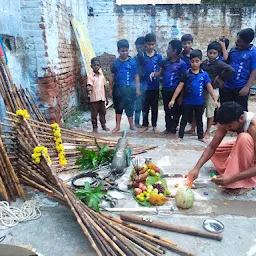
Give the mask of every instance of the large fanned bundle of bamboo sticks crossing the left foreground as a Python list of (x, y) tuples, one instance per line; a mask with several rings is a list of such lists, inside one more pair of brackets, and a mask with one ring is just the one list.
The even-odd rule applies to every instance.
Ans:
[[(172, 241), (155, 236), (132, 225), (124, 225), (118, 219), (107, 214), (97, 213), (87, 207), (58, 177), (58, 168), (54, 164), (49, 164), (44, 154), (42, 154), (40, 164), (36, 165), (31, 161), (33, 149), (41, 144), (41, 137), (35, 133), (37, 127), (32, 126), (35, 122), (10, 113), (9, 120), (12, 120), (10, 128), (13, 134), (16, 134), (14, 136), (16, 140), (16, 158), (13, 163), (17, 168), (20, 181), (67, 203), (97, 255), (159, 256), (165, 253), (164, 248), (181, 255), (193, 255), (179, 248)], [(44, 125), (46, 127), (46, 124)], [(42, 127), (42, 124), (40, 127)], [(50, 141), (52, 138), (47, 137), (47, 140)], [(79, 140), (77, 139), (76, 143)], [(46, 142), (44, 141), (44, 143)], [(52, 155), (53, 149), (50, 151), (51, 158)]]

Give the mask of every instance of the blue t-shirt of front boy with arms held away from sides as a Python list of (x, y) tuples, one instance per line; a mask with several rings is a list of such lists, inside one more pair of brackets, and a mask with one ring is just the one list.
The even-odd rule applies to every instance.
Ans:
[(194, 74), (192, 70), (189, 69), (181, 79), (181, 82), (184, 83), (183, 104), (204, 104), (204, 88), (211, 82), (207, 72), (201, 69), (198, 74)]

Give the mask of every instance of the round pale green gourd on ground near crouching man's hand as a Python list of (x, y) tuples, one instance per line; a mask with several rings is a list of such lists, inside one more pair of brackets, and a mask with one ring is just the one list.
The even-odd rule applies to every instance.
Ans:
[(194, 204), (194, 193), (189, 187), (179, 188), (175, 196), (175, 201), (178, 207), (188, 209)]

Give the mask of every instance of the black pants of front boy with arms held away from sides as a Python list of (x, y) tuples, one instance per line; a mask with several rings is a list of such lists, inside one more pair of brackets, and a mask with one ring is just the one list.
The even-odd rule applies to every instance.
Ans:
[(195, 115), (196, 120), (196, 129), (198, 139), (202, 139), (204, 137), (204, 129), (203, 129), (203, 113), (204, 113), (204, 105), (183, 105), (182, 108), (182, 118), (180, 121), (180, 129), (179, 129), (179, 137), (182, 139), (184, 137), (185, 127), (188, 123), (189, 117)]

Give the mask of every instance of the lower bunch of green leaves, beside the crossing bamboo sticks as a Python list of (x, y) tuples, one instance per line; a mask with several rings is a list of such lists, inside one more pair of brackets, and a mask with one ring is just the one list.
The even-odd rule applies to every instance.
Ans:
[(79, 189), (75, 192), (75, 195), (86, 203), (90, 208), (94, 209), (96, 212), (99, 211), (99, 204), (101, 203), (101, 198), (106, 194), (106, 192), (101, 192), (104, 185), (100, 185), (92, 189), (88, 181), (84, 183), (84, 189)]

